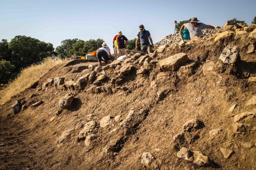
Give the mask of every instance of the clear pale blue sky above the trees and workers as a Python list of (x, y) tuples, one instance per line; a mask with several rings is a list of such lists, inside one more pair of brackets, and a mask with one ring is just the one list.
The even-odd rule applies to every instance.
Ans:
[(250, 24), (256, 16), (255, 0), (0, 0), (0, 7), (0, 40), (10, 42), (16, 35), (25, 35), (55, 48), (69, 38), (101, 38), (111, 47), (119, 30), (129, 40), (136, 38), (140, 24), (156, 43), (174, 33), (174, 20), (197, 17), (205, 24), (222, 26), (233, 18)]

